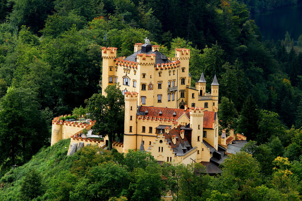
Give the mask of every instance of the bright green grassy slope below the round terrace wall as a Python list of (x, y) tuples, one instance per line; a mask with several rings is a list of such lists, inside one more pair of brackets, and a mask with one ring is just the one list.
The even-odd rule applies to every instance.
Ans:
[(73, 160), (72, 156), (67, 156), (69, 143), (70, 139), (65, 139), (51, 147), (42, 148), (29, 162), (7, 172), (0, 179), (0, 200), (19, 200), (22, 180), (31, 169), (39, 172), (43, 181), (63, 170), (69, 170)]

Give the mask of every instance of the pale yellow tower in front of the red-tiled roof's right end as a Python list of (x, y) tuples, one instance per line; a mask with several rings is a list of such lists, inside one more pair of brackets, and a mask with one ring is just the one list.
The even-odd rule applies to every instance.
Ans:
[(191, 145), (197, 147), (197, 159), (199, 163), (202, 160), (202, 132), (204, 122), (204, 108), (202, 107), (190, 107), (190, 128), (192, 129), (191, 134)]

